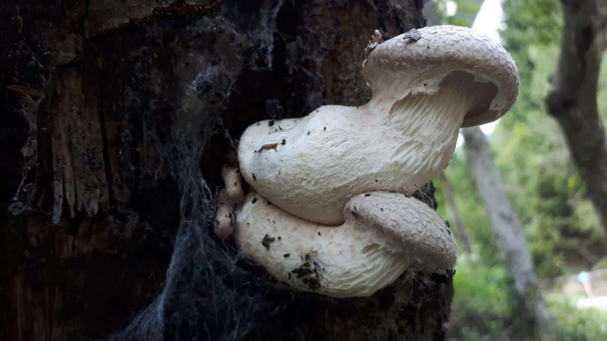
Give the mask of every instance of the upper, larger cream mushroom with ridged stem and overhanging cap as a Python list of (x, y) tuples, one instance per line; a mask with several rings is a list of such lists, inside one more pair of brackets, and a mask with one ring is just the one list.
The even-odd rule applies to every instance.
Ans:
[[(373, 96), (245, 130), (245, 180), (287, 212), (340, 225), (354, 195), (412, 194), (443, 170), (459, 127), (496, 120), (514, 104), (518, 70), (501, 46), (465, 27), (433, 26), (389, 39), (363, 62)], [(270, 147), (268, 147), (270, 146)]]

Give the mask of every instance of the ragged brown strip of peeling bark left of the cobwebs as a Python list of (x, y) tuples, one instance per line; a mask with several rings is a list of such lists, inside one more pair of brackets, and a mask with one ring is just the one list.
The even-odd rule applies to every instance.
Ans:
[[(84, 75), (92, 76), (87, 72)], [(108, 197), (97, 86), (83, 84), (81, 73), (75, 69), (62, 71), (58, 77), (51, 140), (56, 224), (61, 220), (64, 203), (70, 217), (78, 212), (90, 217), (97, 214)]]

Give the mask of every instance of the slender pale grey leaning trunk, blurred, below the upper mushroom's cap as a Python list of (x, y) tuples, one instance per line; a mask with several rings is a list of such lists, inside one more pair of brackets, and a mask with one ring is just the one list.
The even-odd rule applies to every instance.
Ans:
[(506, 197), (500, 174), (493, 164), (489, 143), (480, 127), (460, 131), (464, 135), (466, 159), (497, 236), (498, 247), (506, 256), (514, 287), (523, 299), (527, 314), (535, 319), (536, 334), (548, 337), (552, 317), (541, 297), (523, 228)]

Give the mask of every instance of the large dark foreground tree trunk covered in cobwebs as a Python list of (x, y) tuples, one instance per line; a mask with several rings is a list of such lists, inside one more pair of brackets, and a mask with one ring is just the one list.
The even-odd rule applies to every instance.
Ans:
[[(370, 97), (374, 29), (421, 0), (0, 5), (0, 339), (444, 339), (451, 275), (290, 291), (212, 234), (234, 138)], [(432, 195), (432, 191), (427, 191)]]

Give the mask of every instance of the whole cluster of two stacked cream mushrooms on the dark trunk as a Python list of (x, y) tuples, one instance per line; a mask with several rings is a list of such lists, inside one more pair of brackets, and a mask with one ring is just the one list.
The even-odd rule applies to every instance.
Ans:
[(506, 50), (465, 27), (411, 36), (371, 50), (362, 74), (373, 96), (364, 106), (261, 121), (240, 138), (240, 170), (252, 191), (236, 209), (237, 245), (277, 279), (365, 296), (408, 266), (455, 265), (444, 222), (407, 195), (447, 167), (459, 127), (510, 109), (518, 70)]

